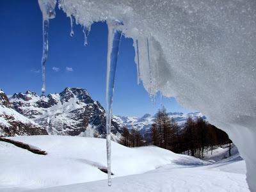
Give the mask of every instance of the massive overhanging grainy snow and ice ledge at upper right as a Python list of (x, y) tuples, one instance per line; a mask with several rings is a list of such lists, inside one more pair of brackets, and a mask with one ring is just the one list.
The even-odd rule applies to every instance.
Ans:
[(255, 0), (60, 0), (59, 4), (86, 27), (122, 20), (119, 29), (138, 41), (140, 65), (135, 61), (150, 95), (160, 91), (176, 97), (228, 132), (246, 161), (250, 189), (256, 191)]

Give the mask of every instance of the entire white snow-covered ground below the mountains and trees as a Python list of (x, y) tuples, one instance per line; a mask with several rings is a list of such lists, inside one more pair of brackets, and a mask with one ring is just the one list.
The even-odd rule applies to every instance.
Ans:
[(211, 164), (158, 147), (113, 142), (113, 186), (108, 187), (106, 140), (72, 136), (18, 136), (46, 150), (40, 156), (0, 142), (0, 191), (248, 191), (245, 164)]

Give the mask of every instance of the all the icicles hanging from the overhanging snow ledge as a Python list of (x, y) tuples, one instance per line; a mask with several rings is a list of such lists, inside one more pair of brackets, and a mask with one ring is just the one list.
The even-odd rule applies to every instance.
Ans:
[[(42, 54), (42, 94), (45, 93), (45, 63), (48, 56), (48, 30), (49, 30), (49, 19), (54, 19), (56, 13), (54, 11), (56, 6), (56, 1), (51, 0), (38, 0), (38, 4), (43, 15), (43, 54)], [(70, 17), (70, 36), (74, 36), (73, 26), (75, 19), (72, 15)], [(118, 29), (118, 26), (122, 25), (122, 21), (113, 20), (108, 24), (108, 57), (107, 57), (107, 79), (106, 79), (106, 146), (107, 146), (107, 159), (108, 159), (108, 185), (111, 186), (111, 106), (113, 102), (113, 92), (115, 84), (115, 73), (116, 65), (118, 60), (118, 51), (120, 40), (122, 38), (122, 31)], [(88, 35), (90, 32), (90, 27), (84, 26), (84, 46), (88, 45)], [(137, 76), (138, 84), (140, 83), (140, 58), (138, 49), (138, 40), (135, 42), (135, 56), (137, 58)], [(149, 47), (147, 39), (147, 49), (148, 49), (148, 65), (150, 67), (150, 56)], [(151, 82), (150, 74), (150, 82)]]

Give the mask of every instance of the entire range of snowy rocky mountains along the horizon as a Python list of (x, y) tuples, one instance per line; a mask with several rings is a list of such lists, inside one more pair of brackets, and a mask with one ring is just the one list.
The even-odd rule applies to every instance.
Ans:
[[(205, 118), (198, 112), (168, 113), (168, 115), (180, 127), (184, 125), (189, 116)], [(141, 118), (113, 115), (111, 127), (113, 140), (120, 138), (124, 126), (129, 129), (134, 127), (144, 136), (149, 134), (154, 118), (155, 115), (149, 114), (145, 114)], [(15, 93), (9, 98), (0, 90), (0, 136), (23, 134), (105, 138), (106, 112), (100, 103), (94, 101), (83, 88), (65, 88), (61, 93), (47, 96), (27, 91), (26, 93)]]

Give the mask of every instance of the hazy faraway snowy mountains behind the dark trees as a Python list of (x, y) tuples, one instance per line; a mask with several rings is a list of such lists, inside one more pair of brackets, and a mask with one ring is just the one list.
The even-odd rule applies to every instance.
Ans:
[[(170, 112), (168, 113), (168, 116), (170, 118), (173, 118), (175, 122), (179, 125), (180, 128), (184, 127), (184, 124), (186, 120), (189, 118), (193, 118), (194, 120), (196, 118), (202, 117), (206, 119), (204, 115), (200, 112), (195, 113), (178, 113), (178, 112)], [(116, 122), (120, 127), (125, 126), (128, 129), (136, 129), (139, 131), (143, 136), (147, 137), (147, 134), (150, 133), (150, 127), (154, 123), (154, 119), (156, 118), (156, 115), (150, 115), (145, 114), (142, 117), (129, 117), (129, 116), (117, 116), (113, 115), (113, 121)]]

